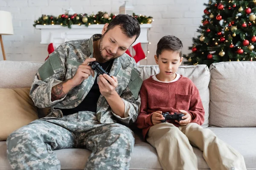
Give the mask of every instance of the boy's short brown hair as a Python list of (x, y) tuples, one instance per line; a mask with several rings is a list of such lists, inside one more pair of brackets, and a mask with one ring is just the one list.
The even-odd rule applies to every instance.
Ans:
[(177, 51), (180, 54), (180, 57), (182, 56), (182, 48), (183, 44), (175, 36), (166, 35), (162, 37), (159, 42), (157, 43), (157, 58), (164, 50), (171, 50), (171, 51)]

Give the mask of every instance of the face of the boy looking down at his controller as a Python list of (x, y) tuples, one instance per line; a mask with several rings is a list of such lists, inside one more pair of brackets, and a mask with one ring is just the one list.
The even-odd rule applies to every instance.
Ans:
[(179, 52), (171, 51), (171, 50), (164, 50), (162, 54), (154, 56), (156, 63), (159, 65), (160, 69), (160, 77), (166, 81), (172, 81), (175, 79), (177, 72), (183, 57), (180, 57)]

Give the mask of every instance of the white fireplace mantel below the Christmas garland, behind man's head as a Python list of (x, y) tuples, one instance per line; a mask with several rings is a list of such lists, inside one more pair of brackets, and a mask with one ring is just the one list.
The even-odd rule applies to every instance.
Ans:
[[(93, 24), (88, 27), (72, 25), (69, 29), (60, 25), (36, 25), (36, 29), (41, 29), (41, 44), (53, 43), (56, 48), (66, 41), (89, 39), (93, 34), (101, 34), (103, 26), (104, 24)], [(140, 36), (134, 44), (148, 43), (148, 29), (151, 28), (151, 24), (141, 24), (140, 28)]]

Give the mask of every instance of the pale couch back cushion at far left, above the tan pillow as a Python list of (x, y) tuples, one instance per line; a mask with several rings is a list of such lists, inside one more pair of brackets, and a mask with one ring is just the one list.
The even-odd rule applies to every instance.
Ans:
[(30, 88), (40, 62), (0, 61), (0, 88)]

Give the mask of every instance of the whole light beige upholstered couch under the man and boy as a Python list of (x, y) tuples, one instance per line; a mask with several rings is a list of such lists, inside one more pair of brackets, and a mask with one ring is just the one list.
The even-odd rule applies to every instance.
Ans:
[[(0, 88), (30, 87), (42, 63), (0, 61)], [(139, 66), (143, 79), (158, 71), (158, 66)], [(243, 156), (248, 170), (256, 170), (256, 62), (221, 62), (211, 65), (180, 66), (178, 73), (198, 87), (205, 109), (202, 125), (227, 142)], [(156, 150), (136, 132), (130, 170), (160, 170)], [(165, 147), (165, 146), (163, 146)], [(202, 152), (198, 169), (209, 169)], [(63, 170), (83, 170), (89, 150), (55, 150)], [(0, 170), (11, 170), (6, 157), (6, 142), (0, 142)]]

